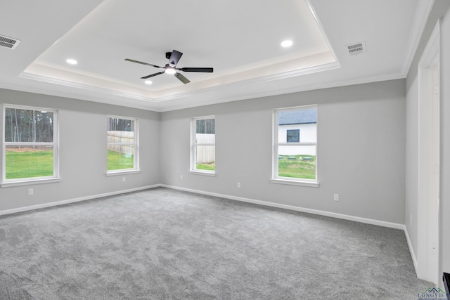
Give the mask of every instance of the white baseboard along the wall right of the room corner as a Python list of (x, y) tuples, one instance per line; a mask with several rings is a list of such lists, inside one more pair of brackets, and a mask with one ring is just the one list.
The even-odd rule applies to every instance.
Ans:
[(205, 192), (202, 190), (193, 190), (191, 188), (181, 188), (179, 186), (174, 186), (174, 185), (161, 184), (160, 186), (162, 188), (171, 188), (172, 190), (183, 190), (185, 192), (197, 193), (197, 194), (201, 194), (201, 195), (208, 195), (208, 196), (212, 196), (212, 197), (220, 197), (220, 198), (236, 200), (236, 201), (240, 201), (240, 202), (259, 204), (259, 205), (264, 205), (266, 207), (277, 207), (277, 208), (281, 208), (281, 209), (289, 209), (289, 210), (293, 210), (293, 211), (306, 212), (308, 214), (318, 214), (320, 216), (329, 216), (331, 218), (337, 218), (337, 219), (343, 219), (343, 220), (348, 220), (348, 221), (355, 221), (355, 222), (359, 222), (359, 223), (366, 223), (366, 224), (371, 224), (371, 225), (376, 225), (376, 226), (383, 226), (383, 227), (388, 227), (388, 228), (404, 230), (404, 224), (399, 224), (399, 223), (392, 223), (392, 222), (387, 222), (387, 221), (379, 221), (379, 220), (374, 220), (374, 219), (361, 218), (359, 216), (338, 214), (335, 212), (322, 211), (322, 210), (318, 210), (318, 209), (307, 209), (304, 207), (295, 207), (293, 205), (280, 204), (280, 203), (268, 202), (268, 201), (262, 201), (262, 200), (254, 200), (254, 199), (244, 198), (244, 197), (236, 197), (236, 196), (231, 196), (231, 195), (210, 193), (210, 192)]

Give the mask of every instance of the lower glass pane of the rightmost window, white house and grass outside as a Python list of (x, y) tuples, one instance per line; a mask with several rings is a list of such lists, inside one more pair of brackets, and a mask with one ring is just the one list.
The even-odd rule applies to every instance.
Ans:
[(316, 179), (316, 146), (278, 146), (278, 176)]

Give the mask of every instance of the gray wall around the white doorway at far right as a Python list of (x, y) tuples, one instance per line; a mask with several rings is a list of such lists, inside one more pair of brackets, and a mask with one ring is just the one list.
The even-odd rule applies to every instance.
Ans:
[[(406, 202), (405, 224), (413, 252), (418, 251), (418, 61), (436, 22), (441, 19), (441, 237), (440, 270), (450, 272), (450, 1), (436, 0), (416, 56), (406, 77)], [(410, 225), (409, 216), (413, 216)], [(439, 280), (442, 286), (442, 281)]]

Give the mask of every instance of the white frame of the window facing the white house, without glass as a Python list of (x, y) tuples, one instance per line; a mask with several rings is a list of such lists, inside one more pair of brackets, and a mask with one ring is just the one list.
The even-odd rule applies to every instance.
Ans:
[[(316, 123), (316, 143), (278, 143), (278, 112), (285, 112), (290, 110), (307, 110), (311, 108), (316, 108), (317, 113), (317, 123)], [(270, 179), (271, 183), (281, 183), (281, 184), (288, 184), (288, 185), (303, 185), (303, 186), (309, 186), (318, 188), (319, 187), (319, 180), (318, 180), (318, 143), (317, 143), (317, 136), (319, 128), (317, 124), (319, 124), (319, 109), (318, 105), (302, 105), (297, 107), (285, 107), (274, 110), (273, 115), (273, 148), (272, 148), (272, 178)], [(301, 134), (301, 133), (300, 133)], [(301, 140), (300, 140), (301, 141)], [(290, 178), (290, 177), (281, 177), (278, 176), (278, 146), (298, 146), (298, 145), (314, 145), (316, 146), (316, 179), (308, 179), (308, 178)]]

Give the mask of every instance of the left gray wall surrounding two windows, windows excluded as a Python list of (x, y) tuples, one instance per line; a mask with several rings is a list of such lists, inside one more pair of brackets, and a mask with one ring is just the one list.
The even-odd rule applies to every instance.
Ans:
[[(0, 89), (0, 105), (4, 103), (58, 110), (60, 176), (63, 180), (58, 183), (0, 188), (0, 211), (160, 183), (158, 112)], [(107, 115), (139, 118), (142, 172), (124, 175), (125, 183), (122, 183), (122, 176), (105, 176)], [(3, 122), (0, 132), (3, 132)], [(3, 156), (1, 151), (0, 155)], [(34, 189), (34, 195), (27, 195), (28, 188)]]

